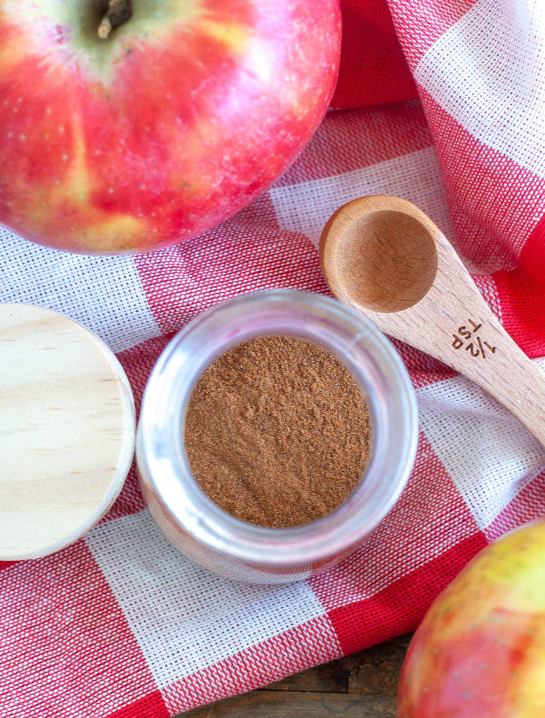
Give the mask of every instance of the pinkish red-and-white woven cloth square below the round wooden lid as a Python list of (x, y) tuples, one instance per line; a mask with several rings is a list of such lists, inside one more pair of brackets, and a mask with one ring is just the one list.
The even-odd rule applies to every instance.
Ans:
[(84, 541), (0, 572), (0, 715), (104, 718), (156, 689)]

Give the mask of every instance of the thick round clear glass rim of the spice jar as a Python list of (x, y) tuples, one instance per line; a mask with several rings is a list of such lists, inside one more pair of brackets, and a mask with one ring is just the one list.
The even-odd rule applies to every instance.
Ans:
[[(181, 426), (169, 423), (167, 414), (174, 402), (176, 415), (183, 416), (194, 383), (206, 365), (227, 350), (226, 342), (234, 345), (251, 336), (282, 333), (280, 327), (285, 326), (286, 312), (289, 314), (295, 306), (308, 320), (307, 326), (300, 328), (303, 338), (312, 341), (314, 332), (316, 343), (324, 346), (321, 332), (329, 332), (329, 340), (336, 332), (342, 335), (336, 354), (360, 386), (364, 384), (362, 388), (373, 404), (374, 420), (380, 424), (376, 432), (381, 434), (378, 455), (365, 472), (365, 481), (328, 516), (291, 528), (254, 526), (222, 511), (196, 485), (183, 451)], [(255, 324), (264, 312), (268, 322), (265, 325), (274, 324), (276, 317), (279, 330), (263, 331), (261, 327), (257, 334), (252, 333), (256, 331), (252, 320)], [(297, 324), (295, 319), (294, 322)], [(224, 348), (209, 355), (202, 342), (206, 341), (207, 332), (218, 330), (222, 332)], [(292, 327), (285, 333), (294, 331)], [(190, 363), (189, 345), (195, 342), (200, 342), (204, 363)], [(349, 347), (356, 359), (365, 358), (365, 364), (358, 368), (354, 359), (347, 364), (346, 356), (339, 356), (342, 346)], [(181, 391), (177, 391), (174, 387), (180, 372), (184, 382)], [(371, 373), (379, 386), (371, 386), (366, 373)], [(143, 463), (159, 500), (181, 531), (230, 558), (289, 566), (326, 560), (361, 541), (384, 518), (399, 498), (414, 461), (417, 406), (407, 369), (391, 342), (372, 322), (321, 294), (267, 290), (222, 302), (176, 334), (158, 359), (146, 386), (138, 433), (138, 461)]]

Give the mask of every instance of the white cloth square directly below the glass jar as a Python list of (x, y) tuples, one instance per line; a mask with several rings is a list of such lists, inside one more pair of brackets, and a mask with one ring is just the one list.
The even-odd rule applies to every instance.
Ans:
[(304, 581), (242, 584), (196, 566), (148, 510), (101, 523), (85, 541), (160, 688), (324, 612)]

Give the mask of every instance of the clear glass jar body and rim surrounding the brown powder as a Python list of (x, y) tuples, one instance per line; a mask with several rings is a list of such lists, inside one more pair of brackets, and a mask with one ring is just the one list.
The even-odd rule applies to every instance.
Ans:
[[(349, 498), (304, 526), (267, 528), (234, 518), (199, 488), (184, 449), (189, 398), (220, 354), (255, 337), (298, 337), (349, 370), (369, 407), (371, 453)], [(136, 456), (149, 510), (172, 544), (230, 579), (284, 583), (351, 554), (402, 492), (414, 460), (417, 407), (407, 370), (382, 332), (354, 309), (309, 292), (243, 294), (182, 329), (153, 368), (143, 396)]]

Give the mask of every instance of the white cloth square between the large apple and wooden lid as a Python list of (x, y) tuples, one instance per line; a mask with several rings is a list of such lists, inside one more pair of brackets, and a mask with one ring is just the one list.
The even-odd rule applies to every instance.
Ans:
[(161, 335), (133, 258), (49, 249), (0, 228), (0, 302), (48, 307), (95, 332), (114, 352)]

